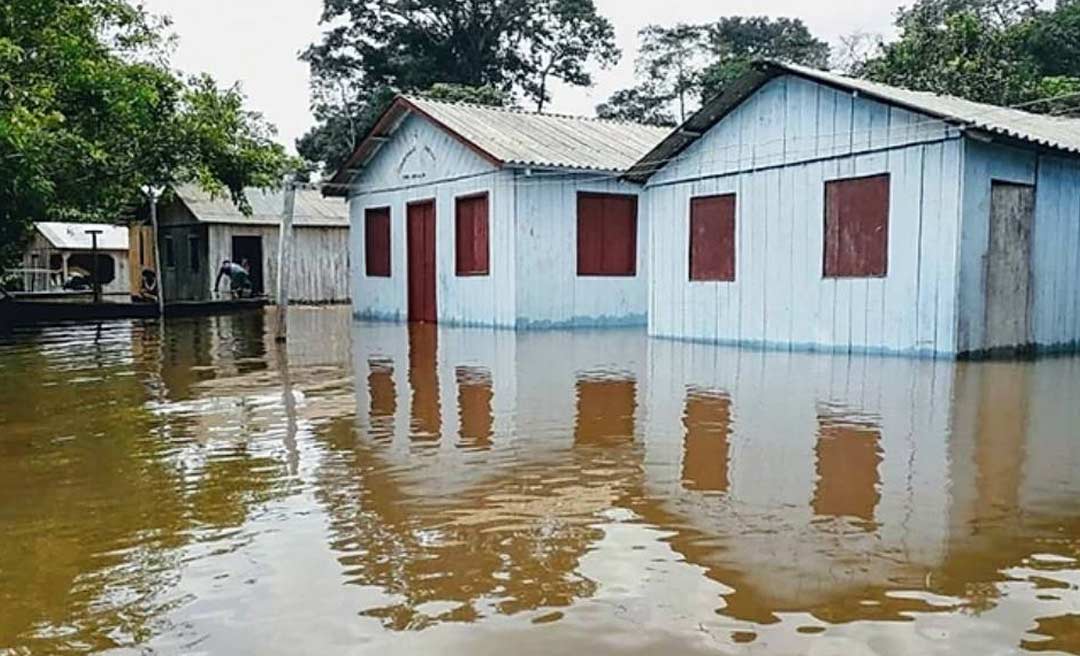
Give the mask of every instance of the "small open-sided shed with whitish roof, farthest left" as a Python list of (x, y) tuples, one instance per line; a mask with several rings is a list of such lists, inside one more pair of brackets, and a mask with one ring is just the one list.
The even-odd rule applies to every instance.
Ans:
[[(97, 266), (94, 239), (97, 235)], [(89, 284), (96, 270), (102, 294), (130, 300), (127, 228), (108, 224), (38, 222), (23, 255), (22, 287), (25, 292), (62, 292), (80, 279)], [(77, 284), (77, 286), (83, 286)]]

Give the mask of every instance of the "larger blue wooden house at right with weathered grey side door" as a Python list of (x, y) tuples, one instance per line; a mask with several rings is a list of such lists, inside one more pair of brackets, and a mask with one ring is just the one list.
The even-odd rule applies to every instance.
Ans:
[(626, 177), (646, 188), (651, 335), (1080, 344), (1080, 120), (762, 63)]

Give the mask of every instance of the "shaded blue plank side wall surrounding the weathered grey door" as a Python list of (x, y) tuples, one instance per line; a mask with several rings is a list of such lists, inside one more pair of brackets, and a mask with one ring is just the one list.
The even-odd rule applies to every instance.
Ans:
[(1031, 326), (1037, 346), (1080, 346), (1080, 159), (969, 142), (964, 161), (959, 349), (993, 348), (985, 335), (990, 184), (1036, 186), (1031, 245)]

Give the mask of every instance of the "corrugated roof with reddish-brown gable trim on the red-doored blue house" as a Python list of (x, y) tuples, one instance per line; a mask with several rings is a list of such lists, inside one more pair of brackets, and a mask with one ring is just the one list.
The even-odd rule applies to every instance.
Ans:
[(410, 113), (430, 120), (498, 166), (622, 172), (671, 132), (670, 128), (629, 121), (403, 95), (394, 99), (334, 176), (332, 185), (339, 193), (352, 173), (370, 161)]

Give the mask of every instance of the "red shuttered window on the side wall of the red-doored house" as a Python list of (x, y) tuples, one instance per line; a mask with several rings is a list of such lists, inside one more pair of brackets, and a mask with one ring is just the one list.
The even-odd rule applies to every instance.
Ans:
[(637, 275), (637, 197), (578, 195), (578, 276)]

